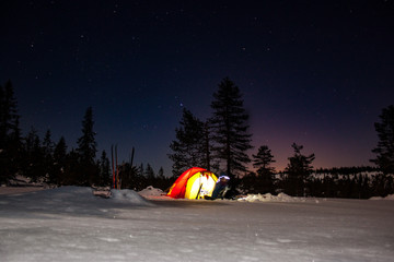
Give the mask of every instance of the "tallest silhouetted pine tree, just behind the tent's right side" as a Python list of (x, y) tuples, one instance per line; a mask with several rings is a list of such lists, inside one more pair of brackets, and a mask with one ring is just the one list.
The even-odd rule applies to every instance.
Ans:
[(240, 88), (228, 78), (221, 81), (213, 94), (211, 108), (216, 156), (225, 162), (225, 171), (230, 177), (243, 175), (251, 162), (246, 151), (253, 148), (252, 134), (248, 133), (248, 115), (243, 107)]

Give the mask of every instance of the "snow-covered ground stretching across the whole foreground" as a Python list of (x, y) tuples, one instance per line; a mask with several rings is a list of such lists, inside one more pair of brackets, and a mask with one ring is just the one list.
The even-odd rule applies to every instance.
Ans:
[(0, 261), (393, 261), (393, 201), (263, 199), (2, 194)]

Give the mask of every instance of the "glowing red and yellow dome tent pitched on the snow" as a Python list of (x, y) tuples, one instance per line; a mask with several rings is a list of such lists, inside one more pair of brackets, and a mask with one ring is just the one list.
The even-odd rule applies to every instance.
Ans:
[(211, 196), (217, 180), (218, 178), (213, 172), (200, 167), (192, 167), (176, 179), (167, 195), (174, 199)]

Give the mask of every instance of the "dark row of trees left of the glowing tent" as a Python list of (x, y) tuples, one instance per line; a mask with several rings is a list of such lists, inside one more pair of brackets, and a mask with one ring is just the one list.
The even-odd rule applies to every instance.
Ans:
[[(68, 148), (65, 136), (54, 142), (48, 129), (43, 139), (32, 127), (23, 136), (18, 103), (11, 81), (0, 86), (0, 183), (9, 183), (16, 175), (33, 182), (51, 186), (113, 186), (113, 167), (105, 151), (97, 158), (93, 109), (88, 107), (77, 148)], [(155, 174), (150, 164), (144, 167), (121, 163), (119, 188), (142, 190), (148, 186), (169, 187), (163, 168)]]

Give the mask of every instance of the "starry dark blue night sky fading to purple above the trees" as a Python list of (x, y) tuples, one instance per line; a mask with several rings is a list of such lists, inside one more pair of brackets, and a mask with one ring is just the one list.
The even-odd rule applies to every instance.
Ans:
[(281, 170), (369, 165), (373, 123), (394, 104), (394, 2), (18, 1), (0, 3), (0, 83), (21, 128), (71, 147), (89, 106), (99, 144), (163, 166), (184, 107), (206, 120), (228, 76), (241, 90), (256, 154)]

